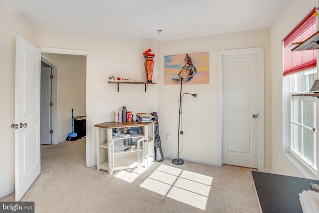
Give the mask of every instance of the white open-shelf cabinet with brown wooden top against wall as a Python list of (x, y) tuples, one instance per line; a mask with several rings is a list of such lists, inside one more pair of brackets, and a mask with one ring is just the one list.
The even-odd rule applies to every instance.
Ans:
[[(95, 124), (96, 127), (96, 169), (106, 170), (109, 175), (113, 171), (149, 167), (149, 161), (154, 161), (155, 157), (155, 123), (132, 122), (105, 122)], [(142, 133), (130, 134), (130, 137), (123, 138), (113, 136), (112, 130), (117, 128), (141, 127)], [(132, 139), (137, 142), (136, 148), (131, 150), (131, 145), (127, 145), (128, 150), (115, 151), (114, 143)], [(153, 158), (153, 159), (152, 159)]]

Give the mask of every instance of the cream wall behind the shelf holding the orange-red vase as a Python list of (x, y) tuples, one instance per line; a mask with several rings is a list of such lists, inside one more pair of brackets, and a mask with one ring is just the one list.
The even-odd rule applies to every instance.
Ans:
[[(87, 50), (87, 140), (90, 140), (91, 161), (96, 165), (96, 144), (94, 124), (113, 121), (114, 110), (126, 106), (133, 114), (157, 111), (157, 84), (122, 84), (117, 92), (116, 84), (108, 84), (109, 76), (146, 80), (143, 52), (151, 48), (156, 54), (153, 81), (157, 82), (157, 45), (141, 40), (120, 40), (105, 36), (80, 35), (74, 33), (35, 30), (38, 47)], [(95, 106), (95, 100), (102, 99), (102, 106)]]

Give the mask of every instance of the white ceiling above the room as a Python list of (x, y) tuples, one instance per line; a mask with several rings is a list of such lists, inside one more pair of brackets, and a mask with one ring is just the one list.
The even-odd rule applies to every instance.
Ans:
[[(270, 27), (289, 0), (0, 0), (36, 28), (166, 41)], [(157, 30), (163, 30), (160, 34)]]

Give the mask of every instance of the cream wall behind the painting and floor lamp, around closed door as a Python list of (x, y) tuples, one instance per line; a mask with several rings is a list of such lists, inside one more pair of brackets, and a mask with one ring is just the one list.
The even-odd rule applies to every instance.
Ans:
[[(164, 56), (209, 52), (209, 84), (183, 85), (183, 160), (218, 165), (218, 50), (264, 47), (265, 63), (265, 168), (271, 169), (270, 29), (251, 30), (159, 43), (158, 108), (164, 157), (177, 157), (179, 85), (164, 85)], [(191, 54), (190, 54), (191, 55)], [(171, 140), (166, 140), (171, 135)], [(181, 140), (181, 139), (180, 139)], [(181, 142), (181, 141), (180, 141)]]

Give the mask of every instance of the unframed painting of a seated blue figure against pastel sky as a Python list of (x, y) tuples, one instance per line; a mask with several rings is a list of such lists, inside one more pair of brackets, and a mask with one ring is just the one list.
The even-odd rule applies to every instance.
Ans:
[(181, 77), (183, 84), (209, 83), (209, 52), (165, 55), (164, 61), (164, 84), (179, 84)]

